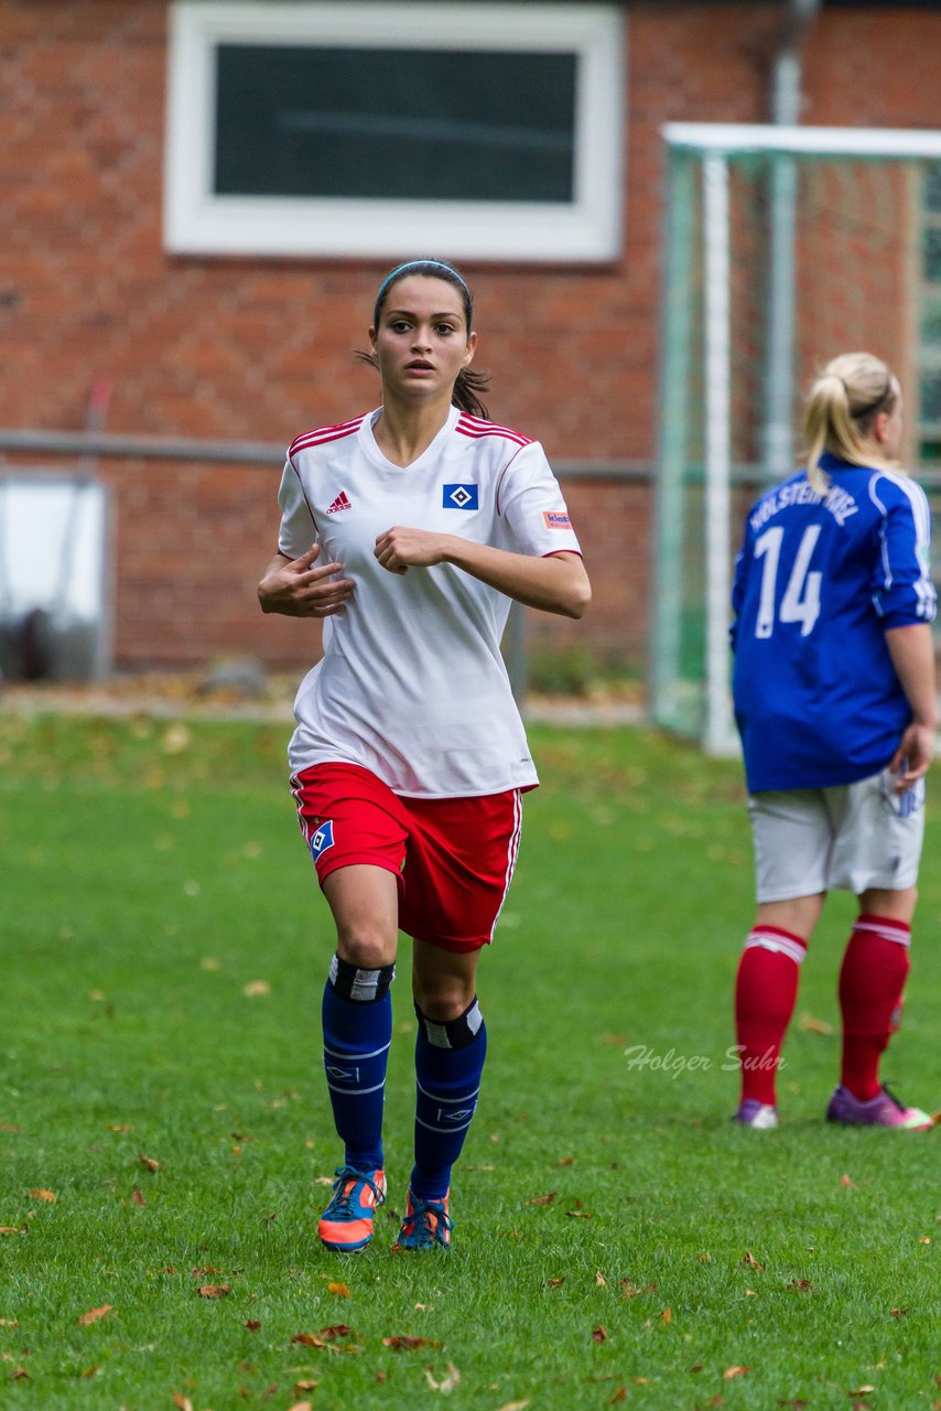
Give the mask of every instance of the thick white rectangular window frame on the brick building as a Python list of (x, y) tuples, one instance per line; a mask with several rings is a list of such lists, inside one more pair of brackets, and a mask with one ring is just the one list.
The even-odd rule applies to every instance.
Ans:
[[(578, 56), (574, 200), (433, 202), (219, 196), (212, 190), (214, 51), (224, 42), (521, 49)], [(176, 254), (609, 261), (624, 209), (619, 4), (174, 0), (164, 240)]]

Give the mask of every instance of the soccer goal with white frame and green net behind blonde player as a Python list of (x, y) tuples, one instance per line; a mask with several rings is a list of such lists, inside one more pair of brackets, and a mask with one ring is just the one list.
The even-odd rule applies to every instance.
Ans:
[(727, 752), (745, 512), (800, 464), (803, 396), (835, 354), (866, 350), (899, 374), (904, 464), (941, 538), (941, 133), (672, 123), (663, 134), (650, 711)]

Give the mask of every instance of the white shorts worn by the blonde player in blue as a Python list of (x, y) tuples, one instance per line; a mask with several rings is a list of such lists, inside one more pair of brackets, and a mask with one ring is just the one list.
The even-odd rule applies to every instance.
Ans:
[(749, 794), (759, 902), (834, 888), (903, 892), (918, 879), (924, 779), (903, 794), (887, 769), (855, 785)]

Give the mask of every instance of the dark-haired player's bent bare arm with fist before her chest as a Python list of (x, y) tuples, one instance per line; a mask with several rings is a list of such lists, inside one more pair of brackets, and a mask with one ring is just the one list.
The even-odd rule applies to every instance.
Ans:
[(453, 563), (516, 602), (561, 617), (580, 618), (591, 602), (588, 574), (581, 557), (571, 552), (539, 559), (474, 543), (459, 535), (394, 525), (375, 540), (374, 553), (389, 573)]

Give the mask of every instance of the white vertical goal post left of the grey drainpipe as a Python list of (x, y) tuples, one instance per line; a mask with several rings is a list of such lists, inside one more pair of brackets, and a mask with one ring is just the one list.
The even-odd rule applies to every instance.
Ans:
[(703, 164), (705, 262), (705, 729), (712, 753), (729, 748), (729, 477), (731, 296), (728, 161), (707, 152)]

